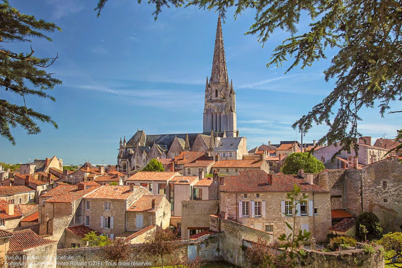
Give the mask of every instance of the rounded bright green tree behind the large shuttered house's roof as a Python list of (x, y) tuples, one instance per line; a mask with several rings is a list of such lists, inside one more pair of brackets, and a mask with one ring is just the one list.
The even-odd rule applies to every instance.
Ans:
[(285, 174), (297, 174), (299, 169), (304, 169), (306, 173), (318, 173), (324, 170), (324, 164), (308, 152), (298, 152), (289, 154), (281, 171)]

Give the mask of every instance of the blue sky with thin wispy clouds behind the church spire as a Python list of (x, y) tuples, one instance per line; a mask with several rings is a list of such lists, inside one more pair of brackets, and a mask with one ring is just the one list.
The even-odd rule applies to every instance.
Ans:
[[(29, 4), (28, 4), (29, 3)], [(145, 2), (144, 2), (145, 3)], [(59, 59), (48, 68), (63, 81), (52, 94), (56, 102), (27, 98), (27, 105), (49, 114), (59, 129), (41, 124), (42, 133), (28, 136), (12, 129), (17, 145), (0, 138), (0, 161), (27, 162), (29, 158), (56, 155), (65, 164), (116, 164), (120, 137), (129, 139), (137, 129), (147, 134), (198, 133), (203, 131), (205, 80), (211, 75), (218, 15), (197, 8), (164, 9), (154, 22), (153, 7), (134, 0), (110, 0), (96, 18), (96, 1), (15, 0), (22, 13), (55, 22), (62, 32), (50, 33), (52, 42), (34, 40), (41, 57)], [(253, 23), (253, 11), (235, 21), (229, 13), (223, 35), (229, 78), (236, 91), (238, 128), (249, 149), (261, 143), (299, 139), (290, 126), (331, 92), (325, 82), (328, 60), (304, 70), (266, 68), (274, 49), (288, 35), (275, 32), (264, 47), (256, 36), (244, 35)], [(299, 30), (307, 29), (302, 20)], [(28, 43), (10, 44), (29, 51)], [(6, 95), (21, 104), (20, 97)], [(400, 110), (401, 104), (392, 104)], [(401, 115), (363, 109), (359, 129), (375, 140), (393, 138)], [(313, 128), (304, 140), (326, 133)]]

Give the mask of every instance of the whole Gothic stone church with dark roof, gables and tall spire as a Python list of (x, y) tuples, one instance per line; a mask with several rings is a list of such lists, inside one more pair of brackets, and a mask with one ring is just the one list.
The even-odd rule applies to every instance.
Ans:
[[(144, 130), (138, 130), (128, 141), (126, 137), (123, 141), (120, 139), (118, 170), (130, 172), (145, 167), (153, 158), (174, 158), (182, 151), (209, 151), (213, 155), (225, 138), (239, 137), (236, 93), (232, 81), (229, 83), (220, 18), (211, 78), (208, 80), (207, 77), (205, 87), (203, 119), (203, 133), (147, 135)], [(246, 138), (243, 137), (243, 140)]]

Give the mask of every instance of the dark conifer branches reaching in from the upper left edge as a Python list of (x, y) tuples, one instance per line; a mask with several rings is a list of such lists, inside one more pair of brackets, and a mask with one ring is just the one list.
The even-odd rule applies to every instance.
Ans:
[(37, 58), (34, 56), (32, 46), (30, 52), (21, 53), (12, 51), (6, 45), (14, 42), (32, 42), (31, 38), (46, 38), (51, 41), (52, 39), (44, 32), (61, 31), (61, 29), (54, 23), (21, 14), (17, 9), (10, 7), (9, 2), (5, 0), (0, 4), (0, 25), (0, 87), (21, 96), (23, 103), (23, 105), (12, 104), (0, 99), (0, 135), (15, 145), (16, 141), (10, 127), (15, 128), (19, 125), (28, 134), (38, 134), (41, 129), (35, 121), (41, 121), (51, 123), (57, 128), (56, 122), (50, 116), (27, 107), (25, 97), (35, 96), (55, 101), (46, 91), (51, 90), (56, 84), (61, 84), (61, 81), (44, 70), (53, 64), (57, 55), (55, 58)]

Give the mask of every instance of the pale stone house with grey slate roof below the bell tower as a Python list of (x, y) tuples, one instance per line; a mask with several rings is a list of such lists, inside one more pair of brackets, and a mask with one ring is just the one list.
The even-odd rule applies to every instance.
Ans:
[(219, 154), (221, 159), (242, 159), (247, 152), (246, 137), (221, 138), (214, 148), (214, 155)]

